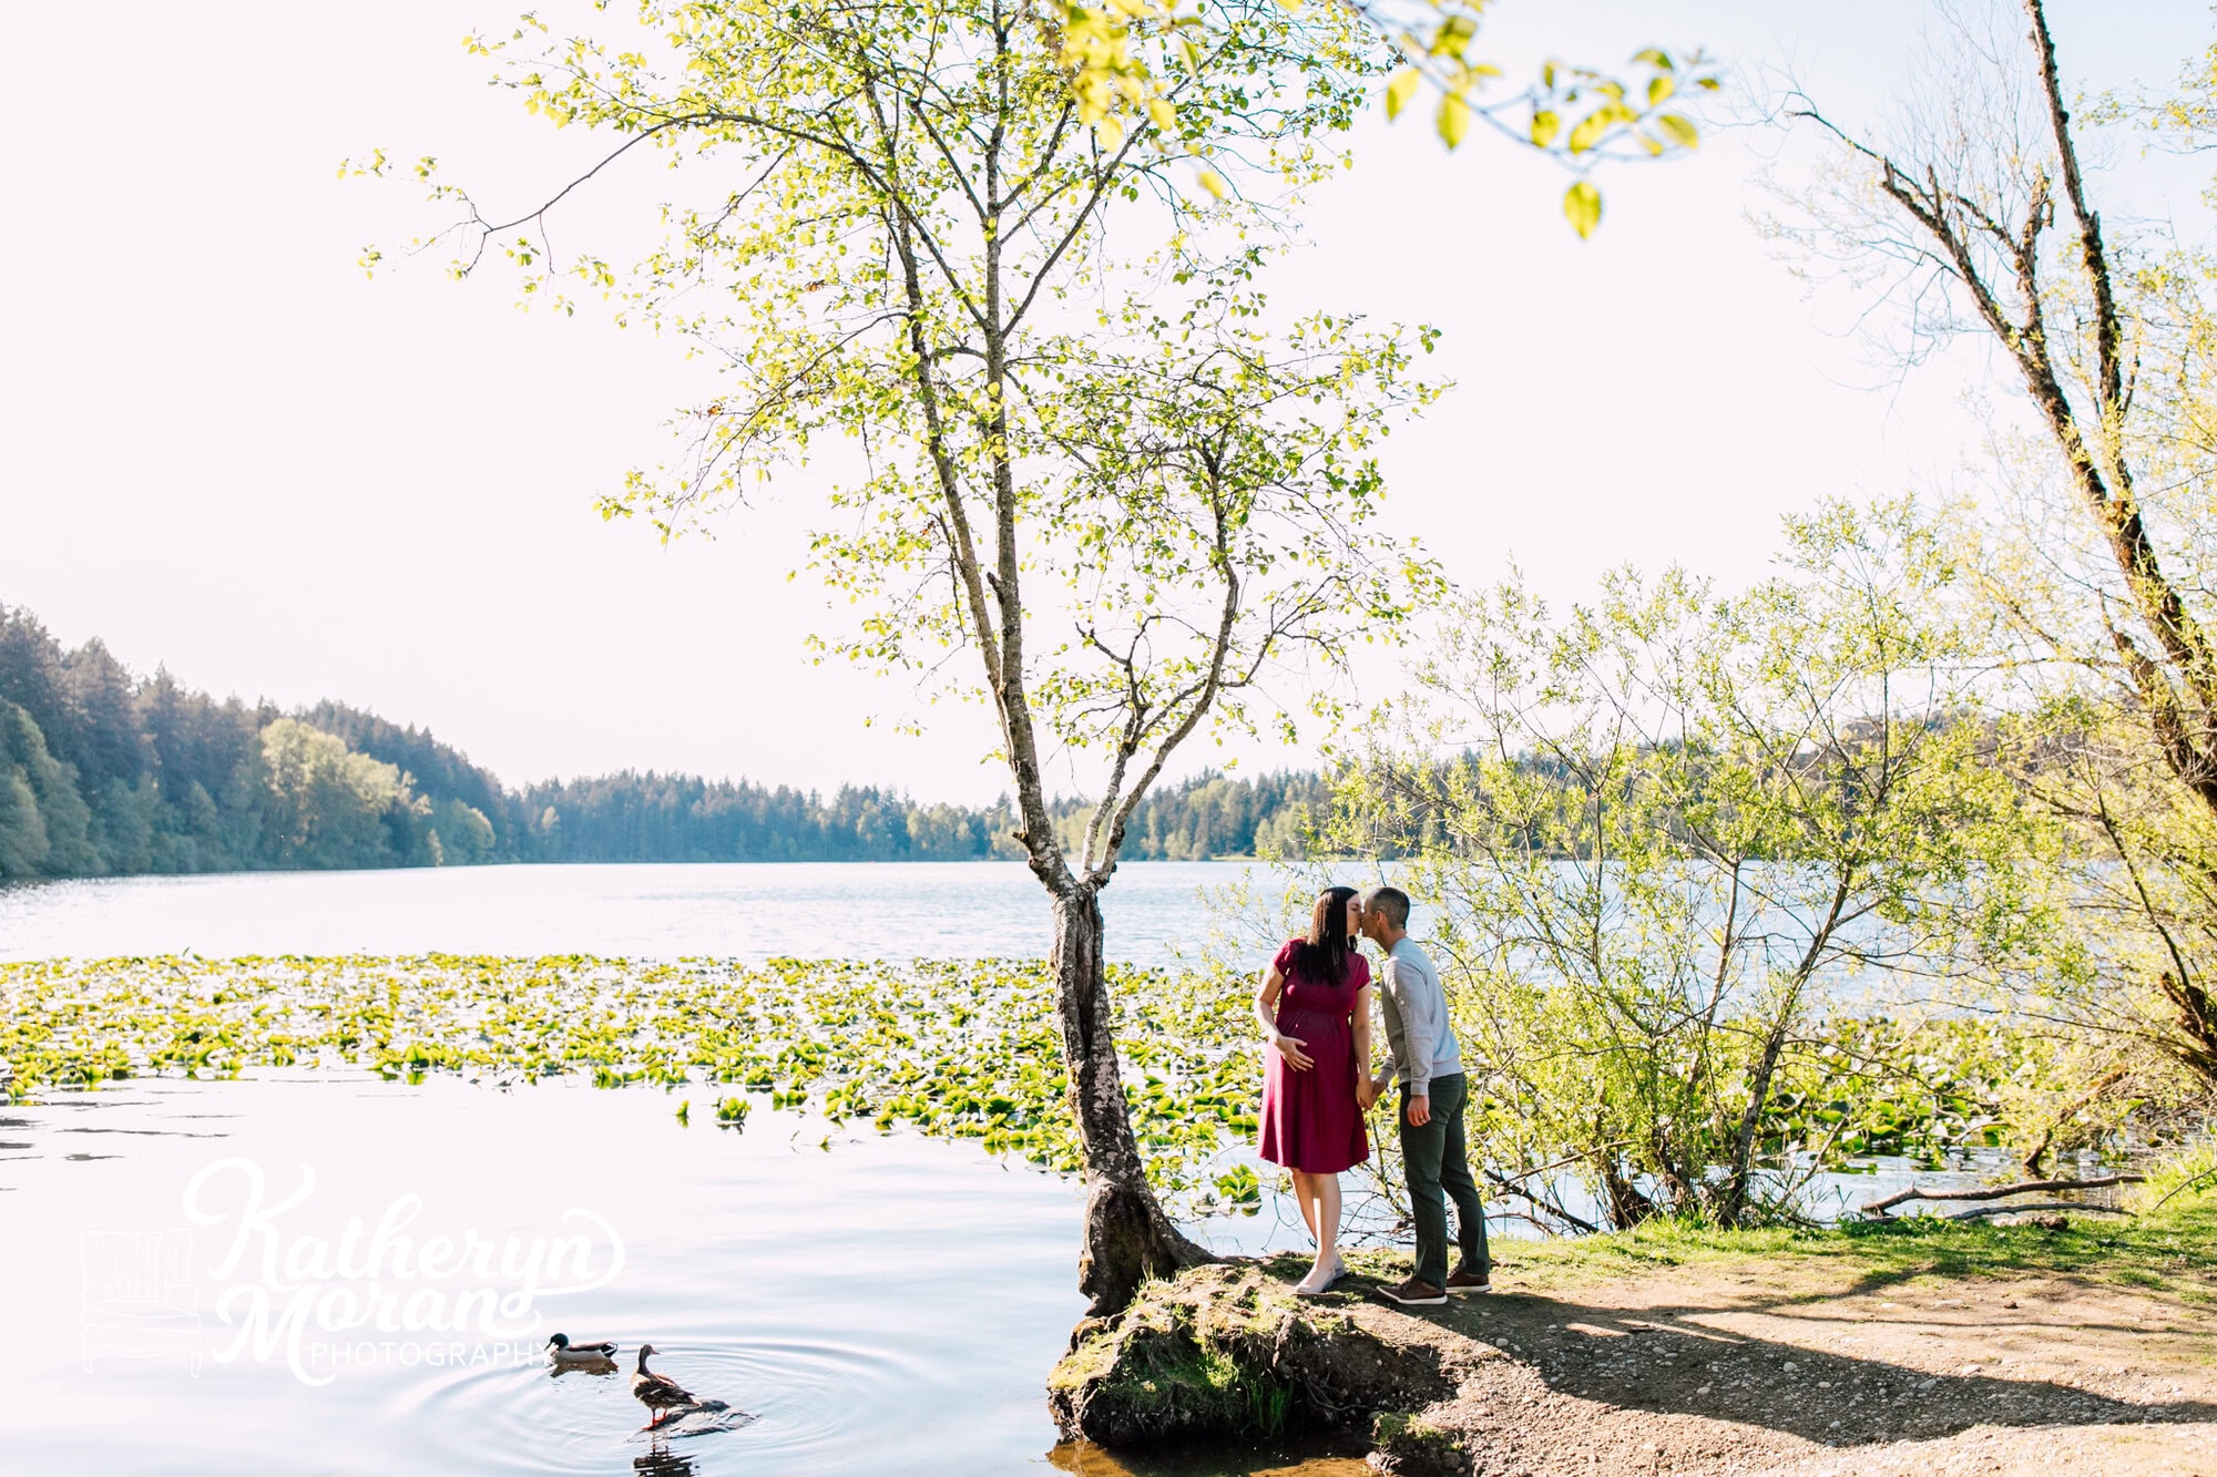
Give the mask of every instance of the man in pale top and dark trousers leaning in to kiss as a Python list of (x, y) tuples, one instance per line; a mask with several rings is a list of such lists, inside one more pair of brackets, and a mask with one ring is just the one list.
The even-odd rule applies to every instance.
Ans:
[[(1361, 1084), (1363, 1107), (1401, 1080), (1401, 1164), (1408, 1171), (1408, 1200), (1417, 1215), (1417, 1269), (1408, 1282), (1381, 1288), (1401, 1306), (1441, 1306), (1448, 1293), (1490, 1293), (1492, 1257), (1485, 1253), (1485, 1209), (1479, 1184), (1470, 1178), (1463, 1151), (1463, 1051), (1448, 1025), (1448, 991), (1439, 969), (1408, 936), (1408, 894), (1399, 887), (1372, 887), (1363, 894), (1363, 938), (1386, 951), (1379, 971), (1379, 1005), (1386, 1011), (1386, 1045), (1392, 1051), (1388, 1071)], [(1368, 1065), (1363, 1067), (1368, 1071)], [(1461, 1242), (1461, 1264), (1448, 1271), (1448, 1204), (1454, 1200), (1454, 1229)]]

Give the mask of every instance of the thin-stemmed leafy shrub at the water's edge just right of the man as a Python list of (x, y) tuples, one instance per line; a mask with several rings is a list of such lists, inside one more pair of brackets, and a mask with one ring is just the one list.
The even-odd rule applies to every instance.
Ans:
[(1488, 1158), (1576, 1167), (1616, 1226), (1767, 1215), (1827, 1147), (1771, 1131), (1822, 994), (2044, 916), (1938, 539), (1907, 503), (1789, 532), (1736, 597), (1623, 570), (1561, 617), (1514, 579), (1470, 599), (1341, 787), (1335, 838), (1434, 905)]

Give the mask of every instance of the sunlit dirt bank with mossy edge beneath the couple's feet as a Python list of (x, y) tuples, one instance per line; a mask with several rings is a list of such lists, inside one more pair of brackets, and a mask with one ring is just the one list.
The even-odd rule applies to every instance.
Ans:
[(2064, 1231), (1654, 1229), (1519, 1242), (1494, 1295), (1408, 1311), (1370, 1297), (1401, 1255), (1319, 1300), (1297, 1257), (1224, 1262), (1080, 1324), (1049, 1391), (1108, 1446), (1330, 1428), (1401, 1477), (2206, 1473), (2213, 1242), (2208, 1195)]

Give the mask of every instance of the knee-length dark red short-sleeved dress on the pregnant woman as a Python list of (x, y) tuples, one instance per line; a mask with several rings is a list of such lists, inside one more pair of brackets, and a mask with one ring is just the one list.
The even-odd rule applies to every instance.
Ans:
[(1348, 971), (1337, 985), (1293, 967), (1290, 940), (1273, 967), (1286, 976), (1277, 996), (1277, 1029), (1301, 1042), (1315, 1062), (1295, 1071), (1277, 1047), (1264, 1049), (1261, 1142), (1257, 1151), (1273, 1164), (1310, 1175), (1337, 1175), (1370, 1158), (1363, 1113), (1355, 1107), (1355, 991), (1370, 982), (1370, 962), (1348, 951)]

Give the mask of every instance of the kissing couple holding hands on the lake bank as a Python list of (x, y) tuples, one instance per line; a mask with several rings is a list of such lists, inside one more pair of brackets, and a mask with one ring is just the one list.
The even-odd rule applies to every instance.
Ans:
[[(1339, 1260), (1339, 1173), (1370, 1158), (1363, 1113), (1394, 1082), (1401, 1164), (1417, 1222), (1417, 1266), (1388, 1302), (1439, 1306), (1448, 1293), (1488, 1293), (1485, 1211), (1463, 1147), (1468, 1082), (1448, 1022), (1439, 969), (1408, 936), (1408, 894), (1399, 887), (1326, 887), (1306, 938), (1290, 938), (1261, 974), (1255, 1018), (1264, 1053), (1257, 1151), (1293, 1173), (1301, 1220), (1317, 1240), (1317, 1262), (1295, 1284), (1319, 1295), (1346, 1275)], [(1370, 960), (1377, 945), (1379, 1009), (1386, 1018), (1386, 1071), (1370, 1073)], [(1461, 1260), (1448, 1271), (1448, 1206)]]

